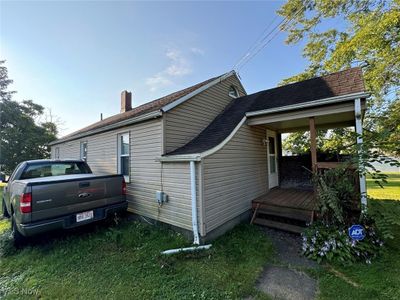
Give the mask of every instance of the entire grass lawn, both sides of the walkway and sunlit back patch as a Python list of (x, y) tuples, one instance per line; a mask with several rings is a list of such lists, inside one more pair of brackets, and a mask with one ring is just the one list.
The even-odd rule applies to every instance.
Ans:
[[(391, 199), (371, 200), (400, 213), (399, 176), (387, 187)], [(376, 190), (376, 191), (375, 191)], [(368, 192), (382, 192), (368, 182)], [(1, 190), (0, 190), (1, 193)], [(381, 194), (382, 195), (382, 194)], [(162, 227), (124, 221), (59, 232), (22, 250), (11, 246), (7, 220), (0, 220), (0, 298), (17, 288), (47, 298), (240, 299), (266, 298), (254, 288), (263, 266), (274, 260), (271, 243), (255, 226), (241, 225), (213, 242), (212, 250), (162, 257), (160, 251), (188, 245)], [(319, 299), (400, 299), (400, 229), (371, 265), (322, 265)], [(13, 289), (12, 291), (15, 291)], [(8, 294), (21, 299), (24, 295)], [(31, 296), (25, 295), (26, 298)]]

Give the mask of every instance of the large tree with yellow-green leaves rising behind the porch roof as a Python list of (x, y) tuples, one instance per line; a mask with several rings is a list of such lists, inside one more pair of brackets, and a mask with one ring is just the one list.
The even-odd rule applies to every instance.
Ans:
[[(306, 40), (303, 56), (310, 62), (304, 72), (283, 83), (361, 66), (366, 88), (372, 93), (367, 134), (381, 131), (382, 134), (375, 135), (381, 136), (377, 145), (387, 154), (399, 155), (400, 128), (396, 120), (398, 124), (400, 0), (289, 0), (278, 13), (291, 20), (291, 26), (285, 29), (289, 34), (286, 42)], [(392, 134), (387, 134), (388, 125)], [(326, 138), (325, 134), (326, 131), (320, 132), (320, 138)], [(351, 144), (350, 136), (348, 129), (330, 131), (330, 139), (336, 141), (333, 145)], [(295, 133), (291, 138), (305, 142), (303, 133)]]

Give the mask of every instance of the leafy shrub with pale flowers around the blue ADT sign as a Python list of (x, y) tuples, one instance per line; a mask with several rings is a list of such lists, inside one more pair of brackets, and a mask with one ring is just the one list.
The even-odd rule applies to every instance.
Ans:
[[(371, 263), (381, 247), (381, 231), (376, 221), (366, 213), (354, 210), (354, 200), (359, 198), (354, 189), (354, 169), (337, 168), (314, 174), (317, 187), (317, 208), (320, 220), (303, 233), (303, 254), (319, 263)], [(352, 240), (348, 228), (358, 223), (365, 229), (362, 241)]]

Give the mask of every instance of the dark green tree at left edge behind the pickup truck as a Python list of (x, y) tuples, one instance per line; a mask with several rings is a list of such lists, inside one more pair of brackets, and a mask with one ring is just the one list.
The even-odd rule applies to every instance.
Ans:
[(38, 121), (44, 107), (31, 100), (12, 100), (15, 92), (8, 91), (12, 80), (0, 61), (0, 167), (10, 174), (18, 163), (50, 156), (48, 144), (56, 139), (57, 126)]

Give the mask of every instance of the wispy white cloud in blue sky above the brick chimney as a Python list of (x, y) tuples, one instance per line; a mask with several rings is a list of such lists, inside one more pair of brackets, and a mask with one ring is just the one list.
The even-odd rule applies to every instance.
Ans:
[(189, 61), (178, 49), (169, 48), (165, 56), (169, 59), (168, 67), (146, 79), (146, 84), (150, 87), (151, 92), (169, 86), (173, 84), (175, 78), (192, 72)]

